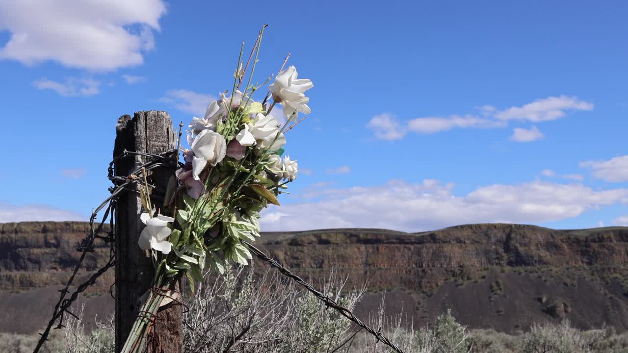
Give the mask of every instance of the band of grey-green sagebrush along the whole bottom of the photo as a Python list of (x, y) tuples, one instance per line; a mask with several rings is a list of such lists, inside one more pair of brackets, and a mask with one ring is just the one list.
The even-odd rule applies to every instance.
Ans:
[[(322, 292), (353, 309), (364, 288), (344, 291), (337, 275), (320, 284)], [(344, 293), (344, 294), (342, 294)], [(416, 329), (411, 318), (384, 315), (379, 310), (367, 320), (407, 353), (625, 353), (628, 333), (612, 327), (580, 331), (568, 321), (533, 325), (526, 333), (509, 335), (494, 330), (472, 330), (457, 322), (450, 310), (433, 325)], [(187, 303), (183, 322), (183, 351), (189, 353), (388, 353), (389, 347), (371, 334), (357, 330), (347, 318), (327, 308), (293, 281), (272, 271), (254, 276), (253, 268), (236, 268), (211, 278), (197, 288)], [(53, 330), (42, 353), (114, 352), (114, 327), (96, 323), (84, 330), (83, 308), (68, 317), (65, 330)], [(32, 352), (38, 335), (0, 334), (0, 352)]]

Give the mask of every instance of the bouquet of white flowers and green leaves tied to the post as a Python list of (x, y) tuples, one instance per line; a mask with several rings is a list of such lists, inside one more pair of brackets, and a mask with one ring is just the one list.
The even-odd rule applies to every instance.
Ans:
[[(190, 148), (180, 148), (185, 165), (176, 171), (162, 206), (170, 215), (161, 214), (151, 203), (148, 183), (141, 187), (141, 220), (146, 227), (139, 247), (151, 253), (154, 289), (144, 295), (124, 353), (143, 349), (152, 324), (149, 318), (168, 301), (176, 280), (186, 276), (193, 291), (195, 281), (202, 282), (208, 271), (205, 266), (223, 273), (230, 261), (246, 265), (252, 259), (241, 241), (259, 237), (259, 212), (268, 204), (279, 205), (279, 193), (296, 178), (296, 160), (284, 155), (284, 132), (299, 112), (310, 113), (305, 91), (313, 85), (298, 79), (294, 66), (285, 70), (282, 66), (268, 85), (266, 98), (254, 100), (256, 91), (272, 79), (251, 84), (262, 35), (263, 30), (251, 52), (255, 58), (246, 87), (239, 89), (249, 65), (244, 67), (241, 49), (232, 93), (221, 93), (204, 117), (190, 122)], [(281, 126), (271, 115), (276, 104), (281, 104), (286, 116)]]

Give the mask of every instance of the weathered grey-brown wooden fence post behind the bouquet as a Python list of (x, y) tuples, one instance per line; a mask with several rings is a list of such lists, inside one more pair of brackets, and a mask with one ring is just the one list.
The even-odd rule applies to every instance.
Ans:
[[(163, 111), (135, 112), (133, 118), (121, 116), (116, 126), (114, 157), (126, 149), (144, 153), (163, 153), (175, 144), (170, 115)], [(146, 162), (141, 156), (127, 156), (118, 160), (115, 168), (118, 176), (127, 176)], [(163, 204), (168, 179), (173, 168), (149, 171), (149, 183), (154, 185), (151, 200), (159, 207)], [(139, 234), (144, 224), (137, 185), (119, 198), (116, 207), (116, 352), (119, 352), (129, 335), (141, 305), (139, 298), (148, 290), (153, 278), (153, 265), (147, 251), (138, 246)], [(178, 284), (176, 287), (178, 289)], [(181, 305), (171, 303), (160, 308), (149, 344), (152, 353), (182, 352)]]

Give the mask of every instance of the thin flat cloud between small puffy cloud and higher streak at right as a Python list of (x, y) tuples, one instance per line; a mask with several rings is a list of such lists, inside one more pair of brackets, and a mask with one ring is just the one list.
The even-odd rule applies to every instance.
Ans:
[(502, 122), (490, 121), (472, 115), (419, 117), (408, 121), (408, 129), (414, 133), (420, 134), (433, 134), (455, 128), (494, 128), (503, 125)]

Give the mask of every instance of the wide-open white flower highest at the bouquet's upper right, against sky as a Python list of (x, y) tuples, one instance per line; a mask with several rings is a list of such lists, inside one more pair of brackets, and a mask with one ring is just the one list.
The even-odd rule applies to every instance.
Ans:
[(298, 73), (294, 66), (290, 66), (279, 72), (269, 89), (273, 92), (275, 102), (281, 103), (283, 113), (286, 117), (295, 111), (310, 114), (311, 109), (307, 106), (310, 99), (305, 97), (305, 91), (314, 87), (311, 80), (297, 79)]

